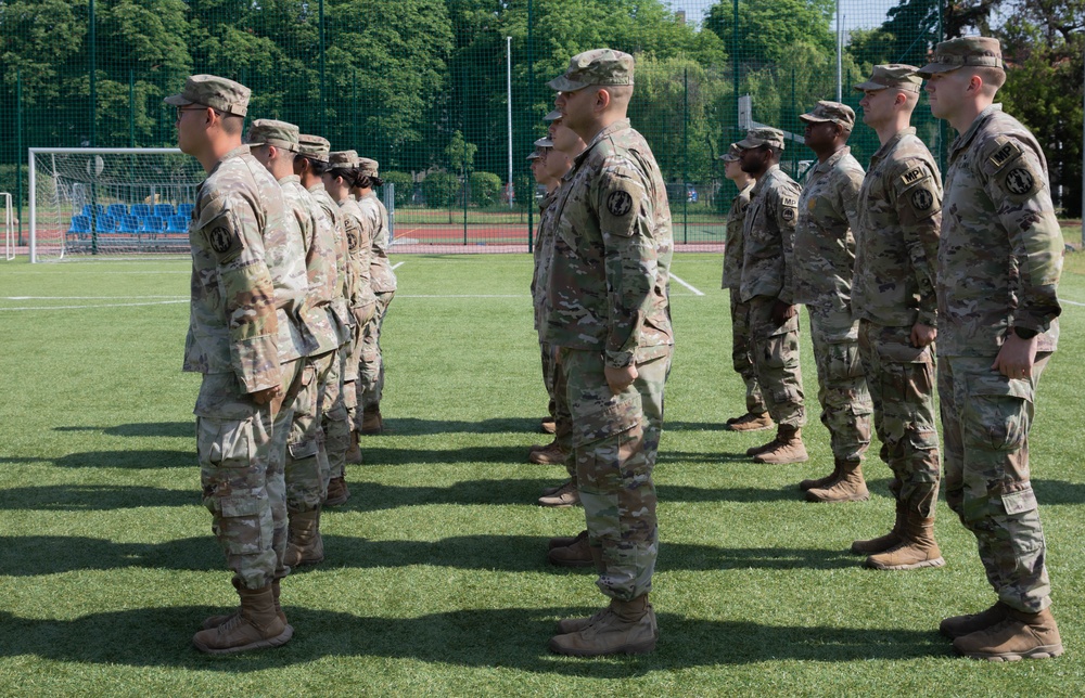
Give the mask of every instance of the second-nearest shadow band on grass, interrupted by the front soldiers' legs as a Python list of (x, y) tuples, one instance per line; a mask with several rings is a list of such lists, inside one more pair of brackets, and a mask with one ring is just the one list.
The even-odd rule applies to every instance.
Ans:
[[(580, 526), (580, 522), (571, 524), (567, 533), (575, 534)], [(547, 539), (537, 535), (458, 535), (438, 541), (371, 541), (326, 533), (323, 540), (324, 563), (318, 567), (301, 568), (296, 573), (416, 565), (467, 570), (570, 573), (565, 568), (547, 563)], [(855, 565), (856, 558), (838, 551), (727, 548), (664, 541), (660, 546), (656, 569), (842, 569)], [(74, 570), (125, 568), (213, 571), (225, 569), (226, 565), (221, 548), (209, 535), (165, 543), (115, 543), (79, 535), (0, 537), (0, 574), (34, 577)]]

